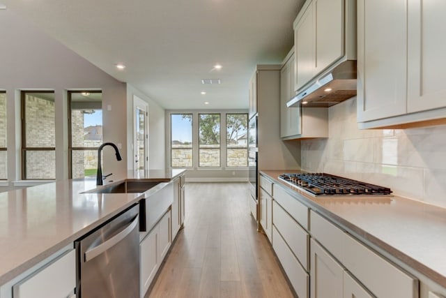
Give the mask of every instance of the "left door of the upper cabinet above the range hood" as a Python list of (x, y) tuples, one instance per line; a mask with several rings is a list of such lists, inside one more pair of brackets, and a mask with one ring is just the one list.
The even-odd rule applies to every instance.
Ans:
[(310, 3), (294, 29), (296, 91), (314, 76), (314, 36), (314, 9)]

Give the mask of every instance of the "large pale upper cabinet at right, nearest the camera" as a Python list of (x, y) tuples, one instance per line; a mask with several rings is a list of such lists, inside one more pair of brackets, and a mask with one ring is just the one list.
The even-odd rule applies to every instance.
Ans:
[(446, 3), (358, 0), (360, 128), (442, 124), (446, 115)]

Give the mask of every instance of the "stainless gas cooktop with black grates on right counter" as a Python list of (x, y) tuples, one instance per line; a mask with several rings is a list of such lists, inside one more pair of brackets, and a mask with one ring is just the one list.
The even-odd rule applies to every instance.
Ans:
[(279, 175), (279, 180), (306, 191), (310, 195), (391, 196), (390, 188), (325, 173)]

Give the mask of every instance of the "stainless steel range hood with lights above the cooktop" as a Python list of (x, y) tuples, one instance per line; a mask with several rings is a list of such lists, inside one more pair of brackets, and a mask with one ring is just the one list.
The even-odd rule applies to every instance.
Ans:
[(287, 107), (330, 107), (356, 96), (356, 60), (346, 60), (316, 77)]

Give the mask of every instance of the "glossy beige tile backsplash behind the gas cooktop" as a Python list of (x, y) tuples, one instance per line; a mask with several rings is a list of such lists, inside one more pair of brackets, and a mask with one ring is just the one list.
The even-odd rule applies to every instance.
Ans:
[(356, 98), (329, 108), (328, 139), (301, 142), (302, 170), (387, 186), (446, 207), (446, 126), (360, 130)]

